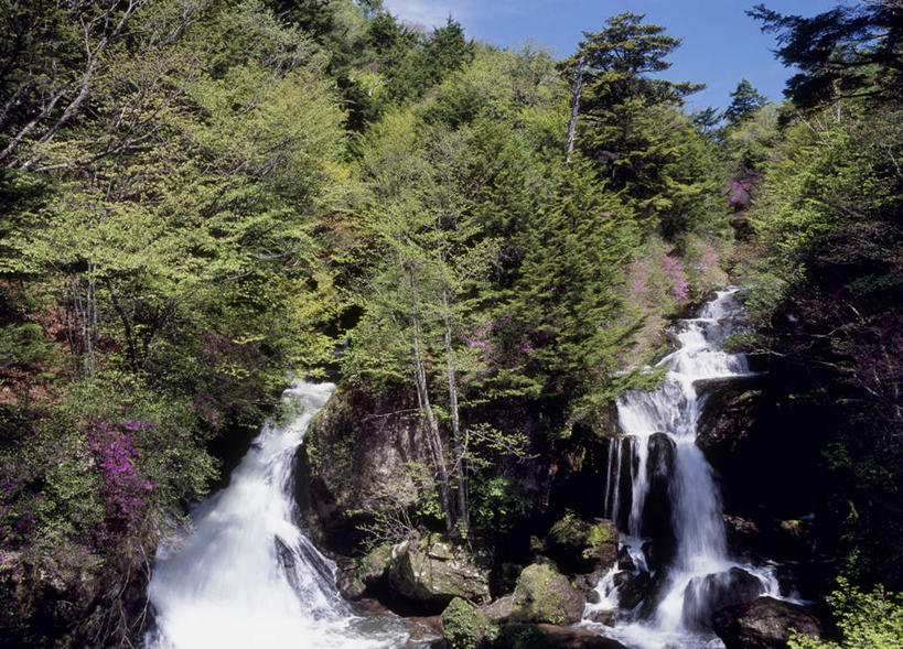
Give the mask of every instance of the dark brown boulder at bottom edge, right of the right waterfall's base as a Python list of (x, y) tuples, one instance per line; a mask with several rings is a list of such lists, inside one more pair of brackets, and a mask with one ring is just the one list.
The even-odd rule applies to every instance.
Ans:
[(792, 628), (815, 638), (821, 632), (818, 619), (805, 608), (773, 597), (722, 608), (712, 627), (727, 649), (786, 647)]

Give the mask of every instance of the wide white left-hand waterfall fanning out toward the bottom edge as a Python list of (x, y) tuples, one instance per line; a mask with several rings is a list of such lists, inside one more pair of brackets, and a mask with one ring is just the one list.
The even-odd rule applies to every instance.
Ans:
[(335, 587), (335, 565), (298, 526), (294, 454), (333, 389), (295, 381), (286, 390), (286, 423), (266, 423), (229, 486), (192, 512), (191, 533), (158, 550), (148, 649), (405, 643), (407, 634), (391, 620), (352, 614)]

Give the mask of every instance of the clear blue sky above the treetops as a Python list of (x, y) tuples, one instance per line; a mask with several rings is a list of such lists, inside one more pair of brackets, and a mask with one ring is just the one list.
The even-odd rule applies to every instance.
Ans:
[(740, 79), (746, 78), (770, 99), (781, 100), (784, 82), (793, 73), (777, 61), (771, 34), (744, 11), (764, 1), (782, 13), (814, 15), (840, 0), (384, 0), (400, 19), (433, 26), (451, 13), (471, 37), (501, 47), (517, 47), (533, 39), (557, 56), (572, 54), (581, 31), (599, 31), (611, 15), (645, 13), (646, 22), (684, 40), (662, 75), (676, 82), (708, 84), (688, 98), (692, 108), (723, 109)]

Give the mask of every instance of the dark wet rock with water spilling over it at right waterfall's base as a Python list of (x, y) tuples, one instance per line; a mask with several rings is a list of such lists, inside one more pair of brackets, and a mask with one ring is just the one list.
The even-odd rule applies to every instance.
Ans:
[(740, 567), (695, 577), (684, 591), (684, 624), (709, 628), (716, 610), (750, 603), (764, 592), (759, 577)]

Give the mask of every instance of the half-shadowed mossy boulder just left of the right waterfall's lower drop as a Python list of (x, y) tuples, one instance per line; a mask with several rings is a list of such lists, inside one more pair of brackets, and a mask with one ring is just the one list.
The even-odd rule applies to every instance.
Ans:
[(608, 519), (588, 521), (569, 511), (549, 530), (549, 553), (569, 573), (605, 571), (617, 560), (617, 528)]

